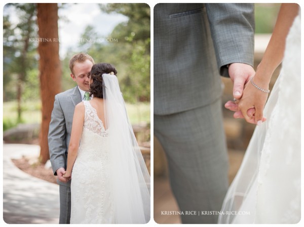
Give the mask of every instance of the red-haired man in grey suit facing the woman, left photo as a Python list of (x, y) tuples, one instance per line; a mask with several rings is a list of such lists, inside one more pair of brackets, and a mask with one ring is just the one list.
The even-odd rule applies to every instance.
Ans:
[(91, 56), (80, 53), (69, 62), (71, 78), (77, 86), (55, 96), (49, 127), (49, 152), (54, 175), (57, 175), (60, 196), (59, 224), (69, 224), (71, 209), (70, 179), (64, 178), (75, 106), (89, 91), (88, 74), (94, 65)]

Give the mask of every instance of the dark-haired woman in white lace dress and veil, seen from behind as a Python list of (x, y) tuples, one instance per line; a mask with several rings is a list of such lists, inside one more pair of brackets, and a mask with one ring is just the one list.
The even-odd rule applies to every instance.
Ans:
[(70, 223), (146, 223), (150, 219), (149, 174), (116, 73), (110, 64), (93, 65), (93, 98), (75, 106), (63, 175), (71, 177)]

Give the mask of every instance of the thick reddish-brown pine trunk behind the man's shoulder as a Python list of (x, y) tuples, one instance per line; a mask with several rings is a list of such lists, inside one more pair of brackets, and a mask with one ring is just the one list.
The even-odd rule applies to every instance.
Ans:
[(40, 37), (38, 51), (40, 55), (40, 92), (42, 101), (40, 161), (46, 163), (50, 158), (48, 133), (54, 97), (61, 90), (57, 4), (37, 4), (37, 23)]

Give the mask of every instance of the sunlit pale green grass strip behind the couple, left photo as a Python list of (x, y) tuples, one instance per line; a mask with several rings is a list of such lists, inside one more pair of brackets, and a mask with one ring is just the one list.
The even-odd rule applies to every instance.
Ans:
[[(150, 123), (150, 104), (126, 104), (129, 119), (132, 124)], [(22, 123), (41, 123), (40, 101), (30, 101), (22, 104)], [(3, 103), (4, 130), (17, 124), (17, 102)], [(6, 125), (6, 126), (5, 126)]]

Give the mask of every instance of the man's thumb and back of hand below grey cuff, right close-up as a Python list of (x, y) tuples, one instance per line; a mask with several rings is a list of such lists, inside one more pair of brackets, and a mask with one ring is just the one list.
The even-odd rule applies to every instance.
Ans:
[(232, 63), (229, 66), (229, 76), (233, 82), (233, 97), (241, 99), (244, 85), (254, 76), (255, 71), (251, 65), (245, 63)]

